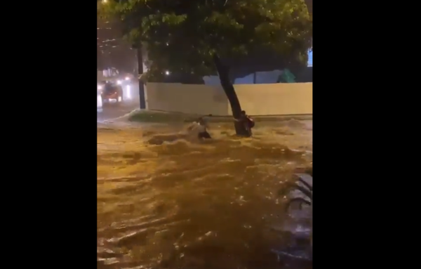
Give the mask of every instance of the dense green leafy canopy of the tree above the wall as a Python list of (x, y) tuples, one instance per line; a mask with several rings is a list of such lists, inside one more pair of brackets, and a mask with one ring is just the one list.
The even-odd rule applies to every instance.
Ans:
[(98, 10), (121, 21), (131, 44), (146, 44), (151, 79), (215, 74), (213, 53), (232, 77), (305, 63), (312, 42), (303, 0), (108, 0)]

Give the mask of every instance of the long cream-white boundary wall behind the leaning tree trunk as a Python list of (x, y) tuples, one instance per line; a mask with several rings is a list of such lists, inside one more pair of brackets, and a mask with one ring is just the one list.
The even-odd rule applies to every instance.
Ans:
[[(313, 114), (313, 84), (236, 84), (241, 108), (250, 115)], [(221, 86), (148, 83), (149, 110), (231, 115)]]

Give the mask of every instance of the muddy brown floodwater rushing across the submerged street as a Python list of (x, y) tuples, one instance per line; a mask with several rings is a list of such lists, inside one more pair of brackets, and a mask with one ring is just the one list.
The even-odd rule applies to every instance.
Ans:
[(98, 268), (286, 268), (276, 192), (312, 166), (312, 121), (183, 128), (98, 127)]

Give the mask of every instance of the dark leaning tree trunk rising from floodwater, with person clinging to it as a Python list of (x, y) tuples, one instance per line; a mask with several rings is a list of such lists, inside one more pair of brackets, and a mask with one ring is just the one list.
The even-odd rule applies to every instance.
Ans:
[[(216, 70), (218, 70), (220, 77), (221, 86), (225, 91), (225, 95), (227, 95), (229, 104), (231, 105), (232, 115), (234, 118), (239, 119), (241, 117), (241, 105), (239, 98), (236, 96), (234, 86), (232, 86), (232, 82), (229, 80), (229, 69), (221, 63), (220, 58), (216, 54), (213, 55), (213, 63), (215, 63)], [(237, 136), (250, 136), (246, 126), (241, 124), (241, 122), (235, 121), (234, 128)]]

